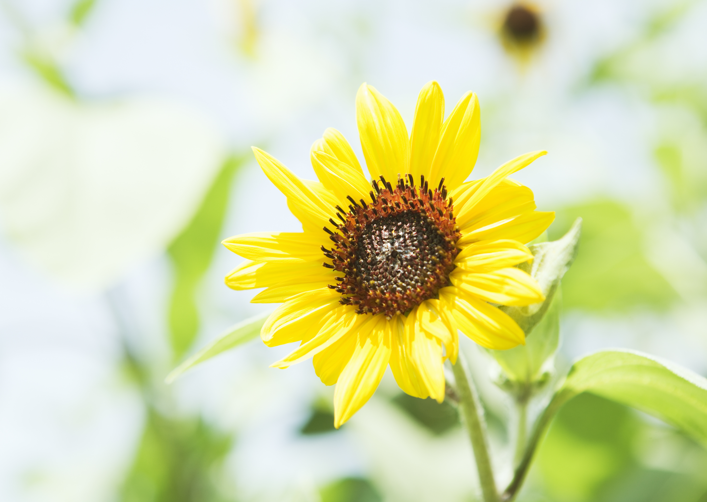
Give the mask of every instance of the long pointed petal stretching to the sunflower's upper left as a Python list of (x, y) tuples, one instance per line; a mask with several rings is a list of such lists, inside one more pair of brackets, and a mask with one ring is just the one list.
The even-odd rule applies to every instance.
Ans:
[(321, 228), (329, 221), (329, 206), (303, 180), (261, 149), (253, 147), (253, 152), (265, 175), (287, 197), (288, 205), (301, 209), (295, 216), (303, 226)]

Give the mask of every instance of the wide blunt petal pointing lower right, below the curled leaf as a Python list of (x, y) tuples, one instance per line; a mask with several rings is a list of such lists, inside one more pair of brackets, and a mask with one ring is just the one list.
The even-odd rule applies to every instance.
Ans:
[(440, 289), (440, 298), (453, 309), (459, 329), (486, 349), (505, 350), (525, 344), (520, 326), (497, 307), (454, 286)]

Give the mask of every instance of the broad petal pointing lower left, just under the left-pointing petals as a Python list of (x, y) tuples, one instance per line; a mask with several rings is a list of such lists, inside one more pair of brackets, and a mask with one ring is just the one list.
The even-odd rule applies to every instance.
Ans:
[(339, 307), (341, 295), (329, 288), (307, 291), (290, 298), (267, 318), (260, 337), (267, 346), (299, 342), (312, 323)]

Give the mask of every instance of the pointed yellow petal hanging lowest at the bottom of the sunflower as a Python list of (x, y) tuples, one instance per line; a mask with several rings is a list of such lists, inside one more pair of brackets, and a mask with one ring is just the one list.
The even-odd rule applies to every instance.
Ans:
[[(373, 395), (390, 359), (386, 320), (376, 315), (358, 332), (354, 354), (334, 390), (334, 427), (339, 428)], [(370, 328), (366, 329), (368, 326)]]

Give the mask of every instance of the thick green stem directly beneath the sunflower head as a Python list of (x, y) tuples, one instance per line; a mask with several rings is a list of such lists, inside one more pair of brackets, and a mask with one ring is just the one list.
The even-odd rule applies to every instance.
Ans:
[(457, 363), (452, 365), (452, 370), (457, 382), (462, 417), (469, 432), (469, 439), (472, 441), (474, 458), (477, 461), (479, 484), (481, 484), (484, 502), (498, 502), (498, 490), (496, 489), (496, 481), (493, 479), (493, 467), (491, 467), (486, 422), (482, 414), (483, 409), (481, 408), (481, 402), (479, 402), (479, 393), (474, 387), (473, 380), (469, 378), (467, 361), (464, 360), (464, 356), (461, 353), (457, 358)]

